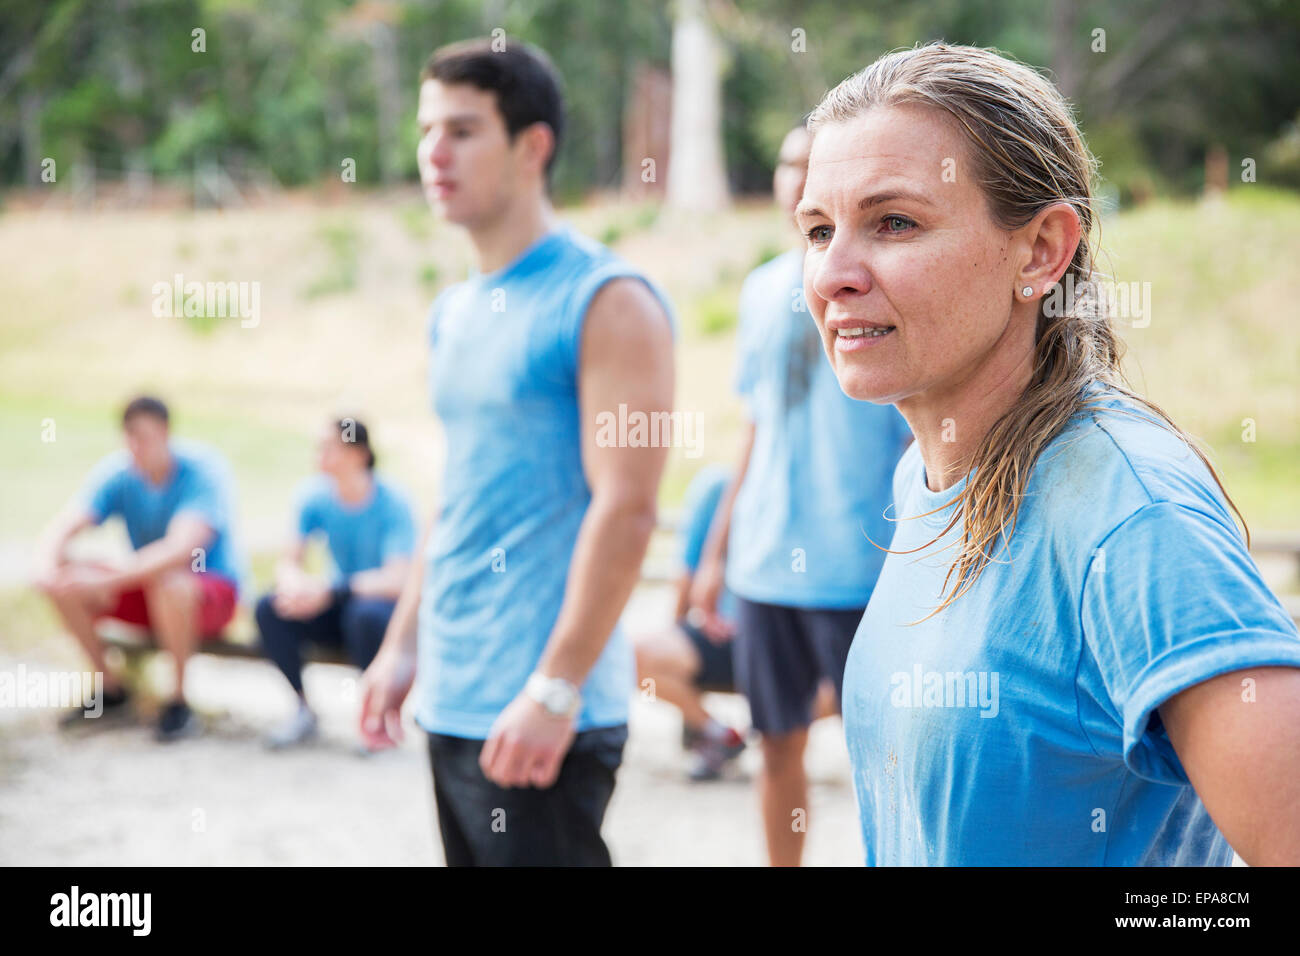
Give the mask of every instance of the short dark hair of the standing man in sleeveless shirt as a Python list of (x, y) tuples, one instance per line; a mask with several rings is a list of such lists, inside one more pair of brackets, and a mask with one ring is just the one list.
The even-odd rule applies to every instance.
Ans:
[(480, 38), (439, 47), (420, 73), (420, 82), (468, 83), (497, 94), (497, 112), (514, 139), (534, 122), (545, 122), (555, 135), (555, 148), (546, 160), (550, 179), (555, 156), (564, 135), (564, 94), (555, 65), (537, 47), (516, 39), (504, 49), (493, 49), (493, 40)]

